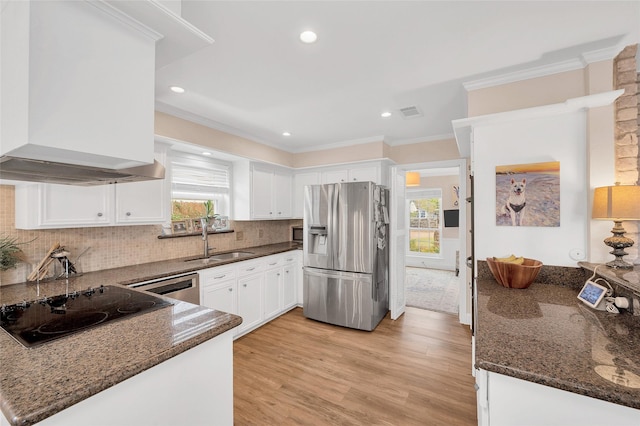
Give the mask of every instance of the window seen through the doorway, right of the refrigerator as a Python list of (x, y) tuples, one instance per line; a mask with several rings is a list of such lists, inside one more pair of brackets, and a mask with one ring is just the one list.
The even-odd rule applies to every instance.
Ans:
[(407, 191), (409, 204), (409, 252), (424, 255), (440, 254), (442, 234), (442, 190)]

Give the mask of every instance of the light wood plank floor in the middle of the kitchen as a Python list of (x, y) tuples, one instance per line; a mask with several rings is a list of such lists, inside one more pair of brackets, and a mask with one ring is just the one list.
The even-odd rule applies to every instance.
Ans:
[(236, 425), (476, 425), (471, 332), (407, 308), (373, 332), (301, 308), (234, 342)]

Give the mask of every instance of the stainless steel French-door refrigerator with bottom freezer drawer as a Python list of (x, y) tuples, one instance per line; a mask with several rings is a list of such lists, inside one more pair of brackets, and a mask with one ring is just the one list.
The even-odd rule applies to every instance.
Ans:
[(305, 187), (303, 311), (373, 330), (389, 310), (389, 191), (373, 182)]

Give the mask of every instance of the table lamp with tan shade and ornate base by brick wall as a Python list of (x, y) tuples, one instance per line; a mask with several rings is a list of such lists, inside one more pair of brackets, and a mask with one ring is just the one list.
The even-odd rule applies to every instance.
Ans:
[(631, 263), (622, 260), (628, 253), (625, 248), (633, 245), (633, 240), (624, 236), (623, 220), (640, 220), (640, 186), (615, 185), (596, 188), (593, 192), (593, 219), (612, 220), (611, 233), (604, 243), (613, 248), (609, 252), (616, 258), (607, 263), (610, 268), (631, 269)]

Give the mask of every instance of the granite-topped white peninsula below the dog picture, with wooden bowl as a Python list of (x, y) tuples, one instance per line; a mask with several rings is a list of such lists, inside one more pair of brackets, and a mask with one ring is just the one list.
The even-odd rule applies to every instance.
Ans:
[(640, 316), (580, 302), (590, 271), (557, 267), (509, 289), (478, 265), (479, 423), (637, 425)]

